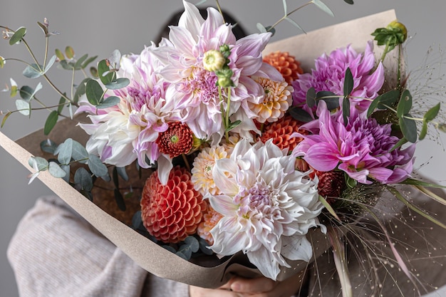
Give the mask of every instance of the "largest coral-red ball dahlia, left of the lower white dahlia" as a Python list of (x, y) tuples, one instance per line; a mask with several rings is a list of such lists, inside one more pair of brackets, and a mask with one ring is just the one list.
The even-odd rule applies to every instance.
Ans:
[(167, 184), (160, 182), (155, 171), (142, 189), (142, 223), (155, 239), (175, 244), (195, 234), (206, 205), (187, 170), (174, 167)]

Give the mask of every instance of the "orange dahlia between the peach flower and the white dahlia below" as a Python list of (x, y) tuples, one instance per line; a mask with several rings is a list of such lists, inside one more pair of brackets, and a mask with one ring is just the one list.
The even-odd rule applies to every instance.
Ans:
[(294, 132), (299, 132), (302, 135), (308, 134), (306, 130), (299, 128), (302, 124), (299, 120), (291, 117), (291, 115), (285, 115), (284, 118), (280, 118), (277, 122), (266, 124), (260, 140), (261, 142), (266, 142), (266, 140), (272, 138), (274, 145), (280, 147), (281, 150), (288, 148), (291, 152), (302, 141), (301, 137), (291, 137), (291, 134)]

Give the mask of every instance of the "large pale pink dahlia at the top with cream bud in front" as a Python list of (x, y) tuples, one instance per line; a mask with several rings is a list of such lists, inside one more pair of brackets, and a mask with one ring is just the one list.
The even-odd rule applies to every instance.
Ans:
[[(238, 129), (249, 135), (256, 130), (252, 121), (256, 114), (249, 109), (247, 100), (259, 103), (264, 96), (264, 89), (251, 76), (283, 80), (279, 71), (262, 61), (261, 51), (271, 34), (252, 34), (237, 41), (232, 25), (225, 24), (219, 11), (207, 9), (204, 20), (197, 7), (183, 3), (185, 12), (178, 26), (170, 27), (165, 46), (154, 51), (165, 65), (160, 75), (172, 83), (167, 98), (180, 104), (183, 122), (199, 139), (217, 143), (224, 135), (222, 108), (228, 108), (228, 100), (232, 122), (242, 120)], [(222, 90), (217, 87), (214, 73), (214, 66), (221, 66), (216, 60), (220, 46), (229, 48), (227, 66), (234, 83), (234, 87)]]

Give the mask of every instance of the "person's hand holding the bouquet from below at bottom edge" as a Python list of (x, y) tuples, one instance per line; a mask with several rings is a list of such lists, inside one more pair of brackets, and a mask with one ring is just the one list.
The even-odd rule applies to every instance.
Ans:
[(220, 288), (199, 288), (190, 286), (190, 297), (290, 297), (299, 293), (304, 271), (285, 281), (270, 278), (234, 277)]

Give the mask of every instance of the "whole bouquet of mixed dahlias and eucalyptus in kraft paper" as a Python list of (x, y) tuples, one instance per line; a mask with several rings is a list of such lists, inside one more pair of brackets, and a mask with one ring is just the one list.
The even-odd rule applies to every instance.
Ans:
[[(259, 25), (261, 33), (237, 40), (219, 10), (207, 9), (204, 19), (193, 4), (184, 6), (168, 38), (140, 54), (114, 51), (91, 75), (85, 70), (96, 57), (76, 58), (69, 47), (26, 66), (28, 78), (48, 79), (55, 64), (85, 73), (71, 97), (56, 88), (61, 99), (38, 134), (50, 137), (19, 140), (38, 143), (46, 157), (34, 148), (29, 158), (1, 136), (12, 155), (29, 158), (31, 180), (48, 182), (148, 271), (199, 286), (219, 286), (232, 273), (283, 280), (331, 249), (343, 294), (352, 296), (348, 234), (361, 239), (358, 229), (368, 229), (393, 247), (377, 214), (384, 193), (446, 227), (398, 188), (412, 185), (446, 203), (427, 189), (440, 186), (412, 176), (415, 143), (428, 125), (445, 127), (435, 123), (440, 103), (412, 115), (407, 31), (393, 14), (367, 19), (375, 26), (365, 34), (369, 40), (359, 37), (353, 46), (344, 34), (336, 48), (306, 43), (299, 53), (297, 38), (269, 44), (274, 26)], [(293, 22), (287, 12), (284, 19)], [(48, 40), (48, 23), (38, 24)], [(11, 45), (28, 47), (25, 28), (3, 28)], [(0, 66), (7, 60), (0, 57)], [(40, 88), (11, 80), (20, 113), (31, 114)], [(72, 130), (73, 120), (58, 122), (63, 110), (83, 131)], [(113, 195), (105, 191), (109, 184)], [(133, 230), (90, 202), (101, 193), (123, 211), (137, 202), (127, 222)], [(365, 219), (379, 230), (365, 228)], [(392, 254), (414, 281), (397, 249)]]

